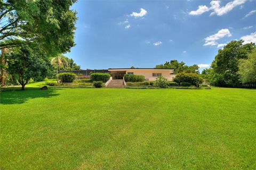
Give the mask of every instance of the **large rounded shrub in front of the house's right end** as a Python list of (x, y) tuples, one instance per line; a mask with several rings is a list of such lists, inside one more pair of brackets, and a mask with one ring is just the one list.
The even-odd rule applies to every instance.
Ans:
[(203, 82), (203, 78), (199, 76), (199, 74), (196, 73), (178, 73), (173, 81), (177, 83), (181, 82), (188, 82), (191, 83), (193, 86), (199, 86), (200, 83)]

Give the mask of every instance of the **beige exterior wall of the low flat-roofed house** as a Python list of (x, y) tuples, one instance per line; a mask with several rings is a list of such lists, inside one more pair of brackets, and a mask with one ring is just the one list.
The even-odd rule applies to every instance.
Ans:
[(128, 72), (133, 72), (135, 75), (144, 75), (145, 79), (148, 81), (155, 81), (157, 77), (153, 77), (153, 73), (162, 73), (162, 76), (169, 81), (172, 81), (175, 77), (173, 70), (170, 69), (111, 69), (110, 72), (117, 72), (117, 71), (125, 71), (126, 74)]

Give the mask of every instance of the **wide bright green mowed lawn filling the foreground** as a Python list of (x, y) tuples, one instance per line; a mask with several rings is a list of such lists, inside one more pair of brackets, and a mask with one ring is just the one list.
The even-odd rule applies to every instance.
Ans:
[(1, 169), (256, 169), (256, 90), (1, 92)]

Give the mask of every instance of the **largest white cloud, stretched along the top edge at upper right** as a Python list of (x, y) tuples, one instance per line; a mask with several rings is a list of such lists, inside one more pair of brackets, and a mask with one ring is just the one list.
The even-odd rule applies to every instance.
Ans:
[(229, 11), (233, 10), (234, 7), (242, 5), (247, 0), (234, 0), (231, 2), (228, 2), (225, 6), (220, 6), (220, 1), (211, 1), (210, 5), (211, 7), (207, 7), (206, 5), (199, 5), (198, 9), (196, 11), (190, 11), (190, 15), (201, 15), (207, 11), (212, 10), (213, 12), (210, 15), (224, 15), (228, 13)]

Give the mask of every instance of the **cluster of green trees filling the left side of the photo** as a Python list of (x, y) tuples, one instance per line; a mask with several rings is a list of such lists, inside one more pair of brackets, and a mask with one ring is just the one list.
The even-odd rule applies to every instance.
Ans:
[[(75, 46), (76, 11), (69, 9), (75, 2), (0, 0), (1, 83), (7, 73), (22, 87), (30, 78), (42, 79), (51, 72), (51, 58)], [(63, 69), (78, 67), (70, 59)]]

